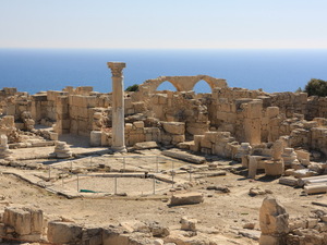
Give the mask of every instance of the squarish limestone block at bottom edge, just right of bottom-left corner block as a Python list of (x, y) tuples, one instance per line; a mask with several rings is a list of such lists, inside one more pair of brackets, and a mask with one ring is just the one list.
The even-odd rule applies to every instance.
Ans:
[(81, 244), (82, 226), (69, 222), (51, 221), (48, 223), (47, 237), (55, 244)]

